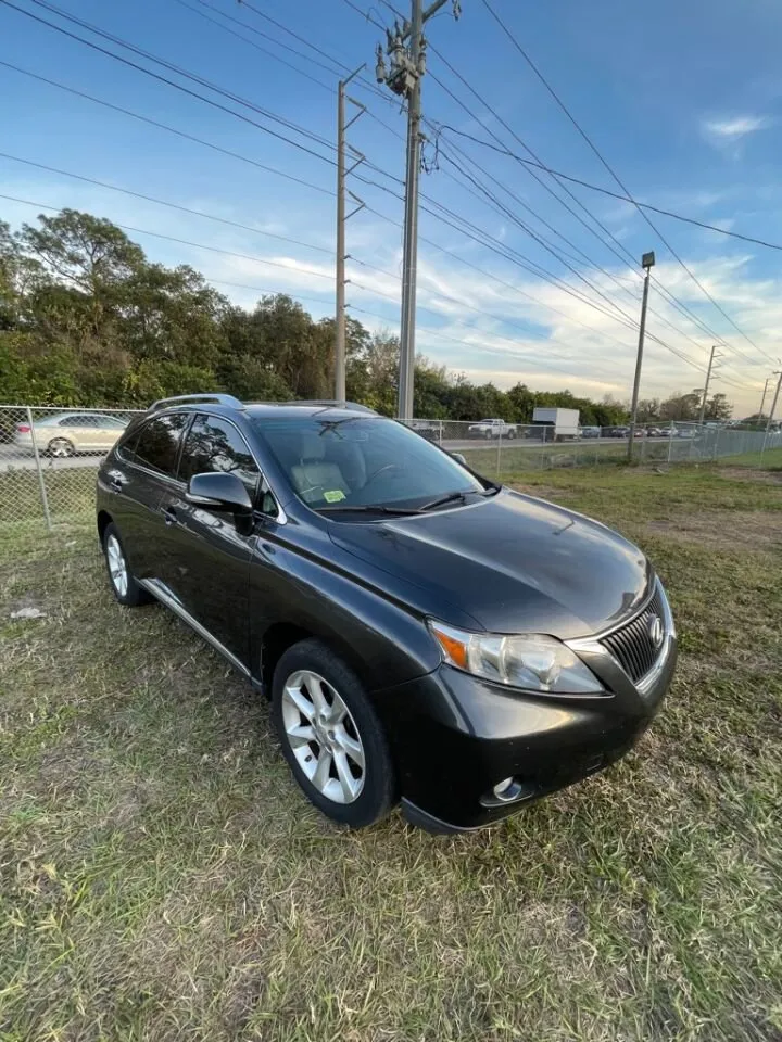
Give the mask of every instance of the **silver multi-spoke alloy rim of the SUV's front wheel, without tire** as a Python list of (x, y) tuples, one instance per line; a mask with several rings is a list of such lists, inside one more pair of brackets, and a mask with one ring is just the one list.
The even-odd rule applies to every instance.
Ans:
[(333, 685), (298, 670), (285, 683), (281, 708), (286, 739), (311, 784), (335, 803), (357, 800), (366, 777), (364, 745)]

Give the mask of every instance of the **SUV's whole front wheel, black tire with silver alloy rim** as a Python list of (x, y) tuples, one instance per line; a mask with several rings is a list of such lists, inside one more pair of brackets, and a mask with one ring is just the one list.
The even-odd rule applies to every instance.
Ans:
[(294, 778), (327, 817), (363, 828), (391, 811), (396, 779), (382, 725), (353, 670), (320, 640), (280, 658), (272, 717)]

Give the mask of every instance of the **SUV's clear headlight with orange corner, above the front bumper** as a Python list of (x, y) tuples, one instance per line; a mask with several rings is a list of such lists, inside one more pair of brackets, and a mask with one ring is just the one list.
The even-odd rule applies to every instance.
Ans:
[(540, 633), (468, 633), (431, 620), (429, 630), (445, 661), (466, 673), (554, 695), (597, 695), (604, 690), (594, 673), (555, 637)]

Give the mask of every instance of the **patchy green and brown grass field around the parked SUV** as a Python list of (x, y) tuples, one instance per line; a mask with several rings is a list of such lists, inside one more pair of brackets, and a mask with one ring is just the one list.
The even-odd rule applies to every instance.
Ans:
[(328, 824), (91, 529), (4, 538), (2, 1042), (782, 1039), (781, 478), (517, 475), (652, 555), (681, 668), (625, 761), (465, 838)]

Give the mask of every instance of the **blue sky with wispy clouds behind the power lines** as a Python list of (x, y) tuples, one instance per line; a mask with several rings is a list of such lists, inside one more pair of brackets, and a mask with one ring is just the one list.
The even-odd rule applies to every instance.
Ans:
[[(13, 2), (155, 68), (70, 25), (33, 0)], [(404, 173), (401, 136), (405, 119), (390, 93), (383, 100), (368, 89), (380, 33), (344, 0), (253, 2), (257, 12), (344, 65), (352, 68), (367, 62), (367, 85), (354, 82), (351, 92), (367, 105), (368, 114), (351, 129), (350, 140), (382, 171), (365, 166), (357, 173), (386, 190), (352, 183), (368, 208), (354, 217), (348, 229), (352, 256), (348, 297), (355, 317), (370, 328), (395, 329), (402, 203), (393, 193), (401, 192), (399, 179)], [(374, 0), (371, 7), (368, 0), (356, 3), (369, 9), (375, 21), (388, 23), (392, 17), (381, 0)], [(326, 160), (3, 5), (3, 60), (243, 158), (0, 66), (3, 152), (249, 228), (184, 214), (4, 158), (0, 158), (0, 192), (54, 207), (87, 209), (146, 232), (212, 246), (209, 251), (129, 232), (151, 258), (191, 264), (242, 304), (252, 305), (258, 291), (285, 291), (301, 298), (315, 317), (332, 314), (335, 201), (330, 193), (336, 175), (330, 142), (335, 138), (338, 66), (236, 0), (136, 0), (133, 4), (58, 0), (58, 5), (305, 128), (315, 140), (204, 88), (193, 88)], [(493, 0), (493, 5), (635, 198), (782, 243), (782, 5), (777, 0), (658, 0), (646, 5), (626, 0), (593, 0), (590, 4)], [(462, 8), (458, 23), (450, 16), (450, 4), (444, 8), (429, 24), (428, 37), (493, 114), (430, 52), (428, 68), (433, 75), (425, 79), (424, 102), (431, 123), (482, 139), (493, 132), (524, 154), (520, 138), (556, 169), (616, 190), (482, 0), (462, 0)], [(227, 21), (220, 12), (242, 24)], [(312, 61), (281, 45), (307, 53)], [(175, 74), (171, 78), (188, 85)], [(468, 115), (438, 79), (466, 102), (477, 118)], [(497, 117), (515, 131), (516, 139)], [(429, 132), (433, 137), (431, 129)], [(441, 145), (439, 168), (421, 180), (427, 196), (424, 205), (428, 209), (437, 204), (447, 207), (479, 229), (484, 243), (485, 237), (491, 242), (480, 244), (433, 214), (421, 213), (420, 233), (426, 241), (421, 241), (419, 256), (420, 351), (481, 382), (494, 380), (509, 386), (522, 380), (533, 387), (568, 386), (575, 393), (627, 398), (636, 333), (622, 323), (615, 305), (635, 321), (641, 281), (629, 260), (621, 259), (620, 251), (623, 247), (640, 257), (654, 249), (659, 283), (708, 329), (674, 309), (659, 287), (653, 285), (649, 333), (678, 354), (654, 340), (648, 342), (642, 394), (665, 395), (702, 386), (708, 352), (719, 336), (726, 344), (714, 390), (728, 393), (739, 415), (757, 409), (764, 381), (782, 355), (782, 253), (653, 216), (659, 231), (747, 340), (706, 300), (630, 204), (571, 187), (618, 240), (619, 245), (610, 243), (611, 250), (515, 160), (472, 144), (452, 130), (443, 130)], [(455, 148), (463, 154), (455, 153)], [(433, 145), (427, 154), (433, 157)], [(465, 155), (482, 170), (467, 166)], [(479, 189), (465, 186), (452, 158), (482, 183), (489, 183), (489, 175), (510, 189), (515, 199), (492, 185), (513, 215), (571, 257), (567, 262), (570, 267), (512, 216), (497, 211)], [(556, 190), (563, 194), (562, 189)], [(571, 199), (566, 201), (578, 209)], [(0, 204), (0, 217), (14, 226), (33, 220), (37, 213), (36, 207), (7, 200)], [(578, 212), (589, 224), (590, 218)], [(566, 237), (567, 244), (556, 233)], [(501, 255), (496, 246), (514, 251), (513, 257), (507, 252)], [(560, 281), (551, 284), (540, 279), (519, 266), (519, 255)], [(231, 282), (257, 289), (226, 284)], [(588, 300), (575, 297), (572, 291)]]

